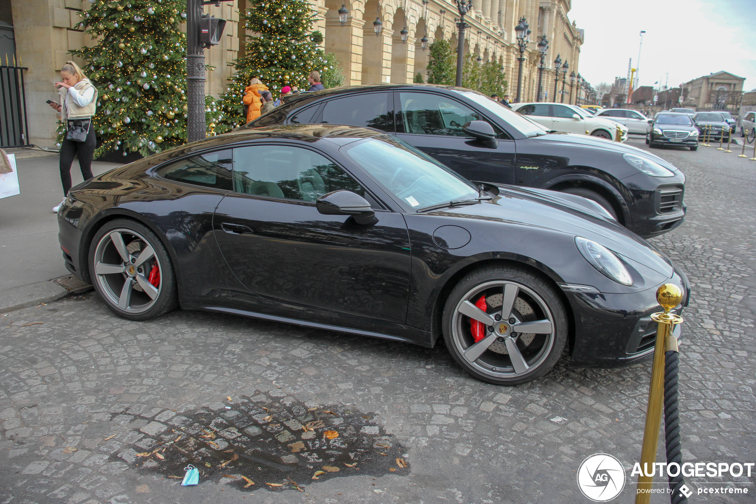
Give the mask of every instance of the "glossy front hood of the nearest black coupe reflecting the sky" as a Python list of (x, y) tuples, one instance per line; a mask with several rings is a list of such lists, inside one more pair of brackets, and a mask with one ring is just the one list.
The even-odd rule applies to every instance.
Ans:
[[(616, 221), (600, 217), (596, 212), (581, 206), (561, 194), (550, 190), (528, 187), (500, 186), (499, 196), (490, 202), (439, 209), (435, 213), (459, 218), (500, 221), (528, 227), (541, 227), (588, 240), (645, 264), (652, 270), (671, 277), (671, 261), (646, 240), (627, 230)], [(464, 227), (464, 224), (460, 224)]]

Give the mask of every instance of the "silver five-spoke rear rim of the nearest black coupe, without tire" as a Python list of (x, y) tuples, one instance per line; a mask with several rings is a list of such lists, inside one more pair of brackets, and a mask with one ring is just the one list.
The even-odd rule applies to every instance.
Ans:
[(141, 314), (155, 305), (163, 267), (141, 234), (119, 228), (101, 237), (95, 249), (99, 291), (121, 310)]

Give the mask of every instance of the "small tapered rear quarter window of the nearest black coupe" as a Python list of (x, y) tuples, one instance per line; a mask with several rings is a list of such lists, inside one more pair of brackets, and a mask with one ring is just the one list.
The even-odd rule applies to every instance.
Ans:
[(156, 173), (172, 181), (213, 189), (233, 190), (230, 149), (180, 159), (157, 169)]

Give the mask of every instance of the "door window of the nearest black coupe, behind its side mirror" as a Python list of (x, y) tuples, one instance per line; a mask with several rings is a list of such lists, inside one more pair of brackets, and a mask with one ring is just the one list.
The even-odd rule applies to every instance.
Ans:
[(250, 145), (234, 149), (234, 190), (314, 202), (334, 190), (365, 196), (364, 188), (329, 159), (302, 147)]

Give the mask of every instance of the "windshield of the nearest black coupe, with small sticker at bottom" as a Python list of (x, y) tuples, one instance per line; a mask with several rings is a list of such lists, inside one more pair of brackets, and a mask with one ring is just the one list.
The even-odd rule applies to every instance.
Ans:
[(478, 197), (469, 181), (395, 138), (366, 138), (339, 151), (414, 210)]

